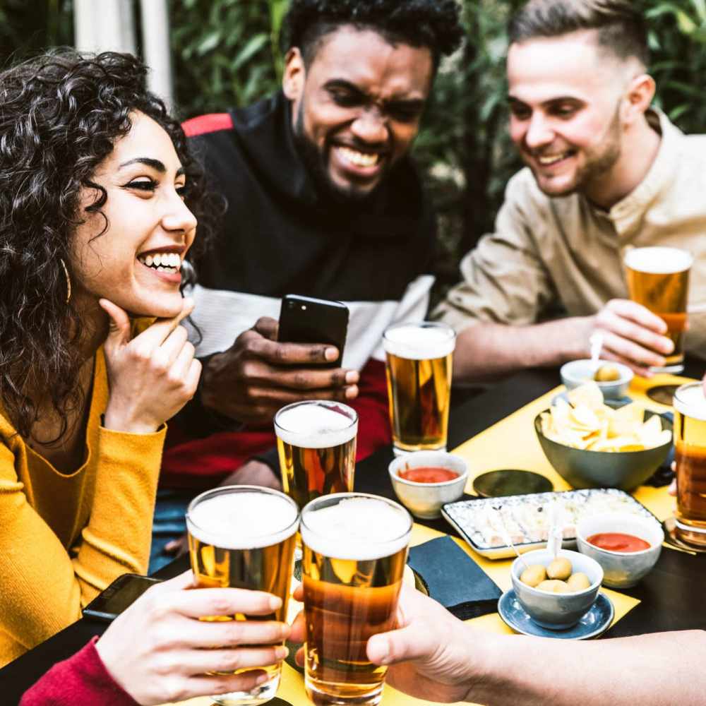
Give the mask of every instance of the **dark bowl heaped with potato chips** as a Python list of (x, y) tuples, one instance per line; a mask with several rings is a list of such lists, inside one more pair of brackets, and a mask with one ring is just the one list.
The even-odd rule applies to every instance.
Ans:
[(632, 490), (666, 460), (669, 419), (636, 402), (606, 405), (596, 383), (585, 383), (534, 419), (544, 455), (573, 488)]

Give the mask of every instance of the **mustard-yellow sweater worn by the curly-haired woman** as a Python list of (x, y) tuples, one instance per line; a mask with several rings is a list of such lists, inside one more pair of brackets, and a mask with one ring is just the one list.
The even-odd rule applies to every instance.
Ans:
[(68, 475), (0, 414), (0, 666), (78, 620), (117, 576), (147, 570), (165, 427), (104, 429), (107, 400), (100, 349), (85, 462)]

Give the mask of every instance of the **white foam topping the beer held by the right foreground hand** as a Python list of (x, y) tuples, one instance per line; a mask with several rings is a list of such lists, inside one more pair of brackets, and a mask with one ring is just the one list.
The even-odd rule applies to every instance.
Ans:
[(405, 510), (384, 501), (346, 498), (306, 513), (300, 529), (302, 542), (318, 554), (369, 561), (404, 549), (412, 522)]

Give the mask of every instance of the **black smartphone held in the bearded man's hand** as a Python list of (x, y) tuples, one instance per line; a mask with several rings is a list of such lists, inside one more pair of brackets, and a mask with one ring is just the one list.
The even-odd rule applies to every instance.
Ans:
[(299, 294), (282, 297), (277, 340), (283, 343), (328, 343), (337, 347), (339, 357), (322, 367), (341, 366), (347, 330), (348, 307), (341, 301), (300, 297)]

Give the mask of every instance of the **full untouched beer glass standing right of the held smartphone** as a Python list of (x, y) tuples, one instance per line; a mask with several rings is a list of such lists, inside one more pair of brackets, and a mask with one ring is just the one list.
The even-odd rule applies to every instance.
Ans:
[(445, 323), (400, 323), (385, 330), (383, 345), (395, 453), (445, 450), (455, 331)]

